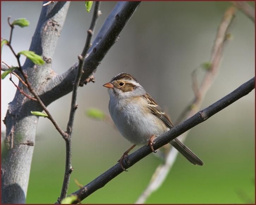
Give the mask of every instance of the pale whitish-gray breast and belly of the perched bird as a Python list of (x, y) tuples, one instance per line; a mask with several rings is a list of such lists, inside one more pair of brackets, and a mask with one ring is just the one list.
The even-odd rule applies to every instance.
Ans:
[(109, 112), (121, 135), (133, 144), (144, 145), (152, 135), (161, 135), (169, 128), (147, 108), (144, 99), (111, 99)]

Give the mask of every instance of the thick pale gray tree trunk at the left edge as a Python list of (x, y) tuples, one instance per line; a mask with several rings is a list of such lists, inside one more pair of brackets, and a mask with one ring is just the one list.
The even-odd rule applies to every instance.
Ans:
[[(37, 93), (47, 79), (55, 75), (51, 70), (51, 58), (54, 55), (68, 7), (69, 2), (56, 2), (56, 4), (42, 7), (29, 50), (42, 55), (46, 63), (38, 66), (27, 59), (22, 66)], [(28, 93), (28, 89), (22, 83), (19, 83), (19, 87)], [(25, 203), (38, 122), (38, 117), (32, 116), (30, 111), (41, 109), (37, 102), (29, 101), (19, 91), (9, 104), (4, 119), (6, 140), (2, 151), (1, 167), (2, 203), (4, 204)]]

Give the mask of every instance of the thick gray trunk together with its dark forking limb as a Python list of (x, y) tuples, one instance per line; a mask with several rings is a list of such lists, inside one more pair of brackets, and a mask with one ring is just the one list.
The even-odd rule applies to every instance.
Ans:
[[(108, 50), (118, 40), (120, 32), (139, 4), (140, 1), (117, 3), (87, 53), (81, 82), (98, 67)], [(30, 50), (42, 55), (46, 63), (43, 66), (36, 66), (27, 59), (22, 66), (46, 106), (72, 91), (78, 66), (78, 63), (75, 63), (59, 75), (51, 69), (51, 58), (68, 6), (69, 2), (57, 2), (42, 8)], [(19, 87), (29, 93), (21, 83)], [(36, 101), (29, 101), (17, 91), (9, 104), (4, 120), (6, 140), (2, 151), (2, 203), (25, 203), (38, 123), (38, 117), (32, 116), (30, 111), (42, 111), (42, 107)]]

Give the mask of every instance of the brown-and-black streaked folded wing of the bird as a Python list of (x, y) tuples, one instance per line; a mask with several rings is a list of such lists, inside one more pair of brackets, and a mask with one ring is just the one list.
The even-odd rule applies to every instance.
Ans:
[(156, 101), (150, 96), (150, 94), (146, 93), (142, 96), (144, 99), (147, 100), (148, 108), (150, 109), (151, 113), (162, 120), (165, 125), (169, 128), (173, 128), (173, 124), (167, 114), (158, 106)]

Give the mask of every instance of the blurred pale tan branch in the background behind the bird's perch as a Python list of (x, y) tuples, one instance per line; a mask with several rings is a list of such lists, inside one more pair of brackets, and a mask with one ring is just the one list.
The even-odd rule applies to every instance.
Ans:
[[(181, 116), (178, 117), (176, 124), (179, 124), (182, 119), (188, 119), (193, 116), (198, 110), (199, 107), (205, 97), (206, 92), (211, 87), (219, 69), (220, 60), (222, 57), (223, 44), (226, 41), (226, 33), (229, 25), (232, 22), (233, 16), (236, 10), (234, 7), (228, 8), (224, 14), (223, 20), (219, 26), (219, 30), (217, 32), (217, 36), (215, 39), (215, 43), (213, 45), (213, 51), (211, 56), (211, 61), (209, 64), (211, 65), (210, 69), (207, 70), (203, 82), (200, 87), (198, 87), (197, 78), (196, 78), (196, 70), (192, 73), (192, 87), (195, 93), (194, 100), (184, 109), (181, 113)], [(181, 141), (184, 141), (187, 137), (189, 131), (183, 133), (179, 136)], [(152, 194), (152, 192), (156, 191), (164, 182), (167, 175), (169, 174), (174, 162), (176, 161), (178, 155), (178, 150), (173, 147), (169, 151), (169, 153), (165, 157), (165, 163), (158, 166), (156, 171), (154, 172), (152, 180), (148, 184), (147, 188), (140, 195), (135, 204), (143, 204), (147, 200), (147, 198)]]

